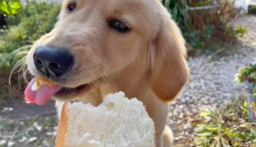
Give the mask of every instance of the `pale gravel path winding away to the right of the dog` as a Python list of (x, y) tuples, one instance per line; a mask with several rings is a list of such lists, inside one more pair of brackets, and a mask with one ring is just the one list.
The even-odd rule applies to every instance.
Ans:
[(244, 85), (235, 83), (234, 75), (256, 58), (256, 16), (240, 17), (236, 24), (247, 26), (248, 33), (239, 39), (242, 44), (233, 49), (235, 54), (215, 60), (213, 56), (189, 58), (190, 83), (172, 102), (169, 113), (177, 144), (186, 142), (188, 146), (192, 142), (192, 121), (203, 107), (218, 107), (232, 96), (245, 94)]

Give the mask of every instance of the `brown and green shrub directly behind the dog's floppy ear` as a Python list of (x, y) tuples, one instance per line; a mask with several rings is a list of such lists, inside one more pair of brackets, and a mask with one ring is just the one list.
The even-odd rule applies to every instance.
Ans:
[[(226, 42), (234, 43), (247, 31), (230, 23), (237, 18), (230, 0), (161, 0), (178, 23), (192, 48), (212, 52)], [(208, 49), (208, 50), (207, 50)]]

